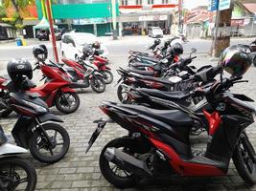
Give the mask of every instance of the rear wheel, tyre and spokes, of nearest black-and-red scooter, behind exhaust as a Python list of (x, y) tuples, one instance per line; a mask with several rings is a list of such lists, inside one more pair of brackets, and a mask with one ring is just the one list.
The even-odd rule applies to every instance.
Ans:
[(141, 153), (138, 142), (134, 138), (115, 138), (105, 145), (100, 156), (100, 169), (105, 180), (119, 188), (133, 187), (137, 177), (122, 169), (121, 166), (117, 166), (105, 159), (105, 150), (110, 147), (120, 149), (130, 156), (134, 156), (137, 153)]

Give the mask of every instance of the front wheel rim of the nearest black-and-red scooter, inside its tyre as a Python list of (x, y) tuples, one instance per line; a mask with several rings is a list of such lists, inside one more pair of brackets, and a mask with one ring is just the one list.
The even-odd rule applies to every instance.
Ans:
[(256, 176), (256, 163), (254, 163), (251, 159), (251, 157), (248, 154), (248, 151), (246, 147), (244, 146), (243, 141), (240, 142), (240, 147), (239, 147), (241, 157), (244, 161), (244, 167), (247, 170), (247, 172), (251, 176)]

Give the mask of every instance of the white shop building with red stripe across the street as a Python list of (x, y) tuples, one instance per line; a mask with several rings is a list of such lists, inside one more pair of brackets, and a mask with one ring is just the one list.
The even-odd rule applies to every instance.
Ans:
[(119, 30), (124, 34), (142, 34), (149, 27), (170, 33), (177, 0), (119, 0)]

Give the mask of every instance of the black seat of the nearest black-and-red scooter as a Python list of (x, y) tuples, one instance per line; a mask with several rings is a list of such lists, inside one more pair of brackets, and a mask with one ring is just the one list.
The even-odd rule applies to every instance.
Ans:
[(191, 117), (179, 110), (155, 110), (145, 106), (125, 104), (123, 107), (138, 112), (139, 114), (155, 117), (156, 119), (166, 122), (172, 127), (191, 126), (194, 123)]

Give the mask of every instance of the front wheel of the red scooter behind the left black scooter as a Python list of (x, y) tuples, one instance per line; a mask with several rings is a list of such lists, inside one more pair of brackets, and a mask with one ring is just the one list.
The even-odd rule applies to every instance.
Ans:
[[(66, 97), (68, 96), (68, 97)], [(72, 96), (74, 98), (74, 105), (70, 106), (68, 98)], [(77, 93), (59, 93), (55, 98), (55, 104), (59, 112), (63, 114), (71, 114), (78, 110), (80, 107), (80, 97)]]

